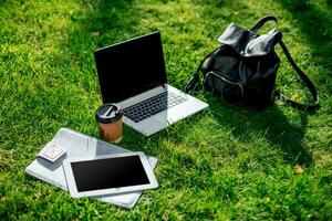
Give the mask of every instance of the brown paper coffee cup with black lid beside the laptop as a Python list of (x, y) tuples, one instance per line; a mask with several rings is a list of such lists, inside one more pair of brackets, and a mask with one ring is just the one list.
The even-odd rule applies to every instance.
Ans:
[(123, 110), (116, 104), (103, 104), (95, 112), (101, 136), (112, 143), (122, 139)]

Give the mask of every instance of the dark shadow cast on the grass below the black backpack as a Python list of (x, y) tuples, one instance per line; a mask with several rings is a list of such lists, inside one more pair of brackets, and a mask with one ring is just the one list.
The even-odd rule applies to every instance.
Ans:
[(220, 105), (218, 98), (211, 99), (210, 109), (220, 124), (232, 128), (234, 136), (238, 137), (241, 143), (253, 144), (258, 135), (258, 137), (264, 137), (271, 146), (281, 149), (284, 162), (290, 165), (312, 162), (311, 152), (302, 144), (308, 113), (299, 110), (297, 123), (290, 123), (278, 108), (278, 104), (264, 110), (256, 110), (227, 104)]

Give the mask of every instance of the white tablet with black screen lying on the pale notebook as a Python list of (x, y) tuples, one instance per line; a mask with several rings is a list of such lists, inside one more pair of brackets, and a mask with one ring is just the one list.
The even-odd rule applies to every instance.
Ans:
[(143, 152), (69, 158), (63, 161), (70, 194), (74, 198), (117, 194), (158, 187)]

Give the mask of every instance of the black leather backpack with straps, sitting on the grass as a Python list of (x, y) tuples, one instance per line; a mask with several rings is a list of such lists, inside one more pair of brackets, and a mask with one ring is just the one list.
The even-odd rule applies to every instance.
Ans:
[[(268, 33), (258, 35), (258, 30), (268, 21), (276, 27)], [(282, 42), (282, 33), (277, 31), (278, 20), (268, 15), (259, 20), (250, 30), (231, 23), (218, 38), (220, 48), (208, 54), (198, 66), (194, 76), (185, 86), (185, 92), (195, 90), (204, 75), (204, 87), (229, 102), (263, 108), (278, 97), (287, 104), (301, 109), (315, 109), (319, 106), (318, 92), (308, 76), (292, 60)], [(278, 44), (288, 61), (309, 87), (313, 104), (294, 102), (276, 90), (277, 71), (280, 59), (274, 52)]]

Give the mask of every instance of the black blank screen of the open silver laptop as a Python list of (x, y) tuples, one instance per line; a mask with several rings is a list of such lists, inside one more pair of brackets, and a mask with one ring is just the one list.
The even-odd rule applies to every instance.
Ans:
[(103, 103), (122, 102), (166, 83), (159, 32), (94, 52)]

